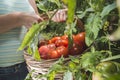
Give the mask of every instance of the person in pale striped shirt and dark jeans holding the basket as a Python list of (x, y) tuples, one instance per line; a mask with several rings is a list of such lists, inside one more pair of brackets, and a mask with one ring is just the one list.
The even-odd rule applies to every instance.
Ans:
[[(60, 16), (64, 15), (64, 17)], [(58, 11), (52, 20), (65, 21), (64, 11)], [(0, 80), (24, 80), (28, 70), (23, 51), (17, 51), (33, 23), (43, 20), (35, 0), (0, 1)]]

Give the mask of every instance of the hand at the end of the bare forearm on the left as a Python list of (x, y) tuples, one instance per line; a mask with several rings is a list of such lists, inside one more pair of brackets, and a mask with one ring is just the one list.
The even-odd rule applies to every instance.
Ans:
[(38, 21), (42, 21), (43, 19), (35, 14), (35, 13), (20, 13), (19, 20), (27, 28), (30, 28), (32, 24), (38, 23)]

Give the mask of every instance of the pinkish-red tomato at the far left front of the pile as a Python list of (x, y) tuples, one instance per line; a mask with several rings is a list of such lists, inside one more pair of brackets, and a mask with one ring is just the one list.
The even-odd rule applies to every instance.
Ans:
[(49, 52), (49, 48), (47, 45), (41, 46), (39, 48), (40, 57), (42, 59), (48, 59), (48, 52)]

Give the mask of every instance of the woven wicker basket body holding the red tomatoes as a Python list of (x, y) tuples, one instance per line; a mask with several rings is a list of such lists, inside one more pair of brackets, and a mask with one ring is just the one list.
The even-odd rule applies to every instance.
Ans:
[[(46, 78), (37, 79), (35, 77), (38, 74), (46, 74), (49, 68), (57, 61), (57, 59), (36, 61), (26, 52), (24, 53), (24, 58), (27, 63), (28, 71), (31, 72), (34, 70), (31, 74), (33, 80), (47, 80)], [(56, 74), (54, 80), (63, 80), (63, 74)]]

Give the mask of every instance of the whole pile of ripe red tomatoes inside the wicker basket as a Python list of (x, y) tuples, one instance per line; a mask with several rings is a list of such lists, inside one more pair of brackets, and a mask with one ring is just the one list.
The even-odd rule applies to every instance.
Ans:
[(41, 42), (39, 44), (39, 53), (42, 59), (55, 59), (61, 56), (81, 54), (85, 50), (85, 32), (73, 35), (73, 46), (68, 48), (68, 36), (57, 36)]

